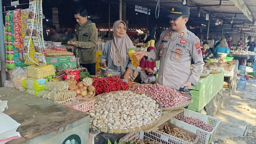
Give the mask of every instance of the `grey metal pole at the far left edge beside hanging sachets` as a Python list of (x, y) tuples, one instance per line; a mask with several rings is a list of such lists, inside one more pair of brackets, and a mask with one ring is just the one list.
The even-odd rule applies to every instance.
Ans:
[(0, 60), (1, 60), (1, 80), (2, 87), (4, 87), (4, 81), (6, 80), (5, 72), (5, 48), (4, 48), (4, 23), (3, 23), (3, 9), (2, 0), (0, 0)]

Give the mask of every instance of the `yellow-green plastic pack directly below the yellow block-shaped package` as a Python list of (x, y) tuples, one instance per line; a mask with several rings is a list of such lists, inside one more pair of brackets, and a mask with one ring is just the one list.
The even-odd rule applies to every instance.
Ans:
[(35, 79), (35, 78), (27, 78), (22, 81), (24, 88), (31, 89), (31, 90), (42, 90), (44, 89), (44, 84), (48, 82), (47, 79)]

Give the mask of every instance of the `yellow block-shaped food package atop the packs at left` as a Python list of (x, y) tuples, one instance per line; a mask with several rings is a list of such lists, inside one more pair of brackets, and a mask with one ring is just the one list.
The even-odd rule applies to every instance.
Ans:
[(30, 65), (27, 70), (28, 76), (32, 78), (46, 78), (55, 75), (54, 67), (51, 64), (45, 66)]

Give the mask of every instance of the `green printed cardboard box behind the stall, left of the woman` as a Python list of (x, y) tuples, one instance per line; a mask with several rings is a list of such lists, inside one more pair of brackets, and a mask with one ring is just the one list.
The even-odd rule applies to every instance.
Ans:
[(76, 68), (77, 60), (75, 56), (50, 56), (45, 57), (47, 64), (52, 64), (56, 70), (65, 70), (66, 68)]

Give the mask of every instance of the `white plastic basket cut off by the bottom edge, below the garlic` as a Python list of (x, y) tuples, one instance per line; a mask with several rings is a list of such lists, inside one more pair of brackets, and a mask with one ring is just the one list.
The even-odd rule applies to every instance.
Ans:
[(123, 138), (120, 138), (119, 142), (121, 142), (121, 144), (128, 141), (133, 143), (141, 139), (149, 139), (155, 142), (161, 142), (162, 144), (192, 144), (160, 131), (144, 132), (143, 130), (126, 134)]

